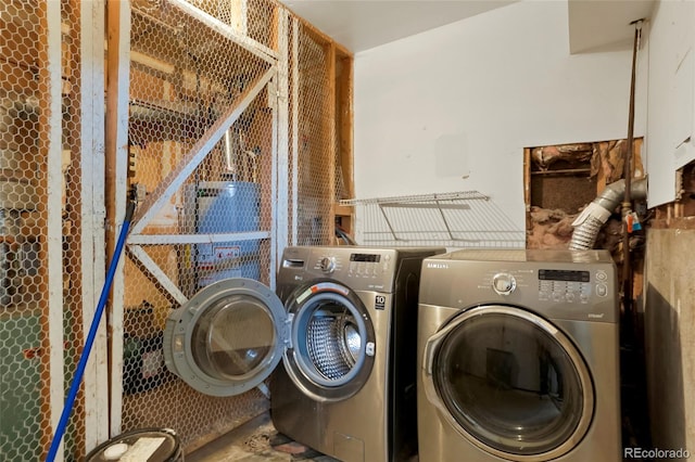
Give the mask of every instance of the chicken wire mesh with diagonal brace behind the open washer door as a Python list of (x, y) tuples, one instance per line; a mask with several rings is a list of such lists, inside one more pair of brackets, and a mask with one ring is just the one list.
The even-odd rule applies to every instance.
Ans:
[[(279, 8), (258, 0), (132, 2), (130, 183), (147, 221), (136, 217), (125, 262), (122, 429), (172, 427), (187, 451), (269, 405), (258, 389), (205, 396), (168, 372), (162, 354), (167, 316), (223, 279), (271, 285), (278, 189), (294, 191), (303, 242), (330, 242), (327, 47), (302, 33), (291, 60), (299, 85), (286, 91), (295, 94), (303, 140), (294, 163), (299, 187), (277, 184), (277, 97), (263, 82), (277, 63)], [(239, 36), (251, 39), (251, 48)], [(210, 141), (225, 120), (233, 121), (219, 141)], [(153, 204), (161, 207), (150, 213)]]

